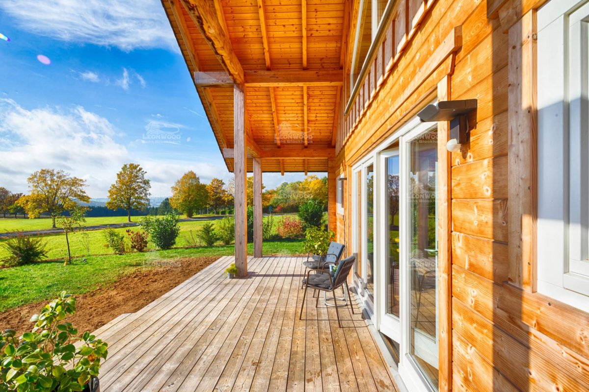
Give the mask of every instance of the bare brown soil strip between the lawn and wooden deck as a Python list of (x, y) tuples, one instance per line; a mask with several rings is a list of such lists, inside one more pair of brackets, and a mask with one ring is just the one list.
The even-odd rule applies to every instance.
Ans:
[[(160, 266), (139, 270), (108, 286), (76, 295), (77, 311), (67, 321), (80, 333), (94, 331), (123, 313), (140, 310), (216, 260), (219, 256), (162, 260)], [(0, 312), (0, 331), (30, 331), (31, 316), (47, 303), (45, 300)]]

